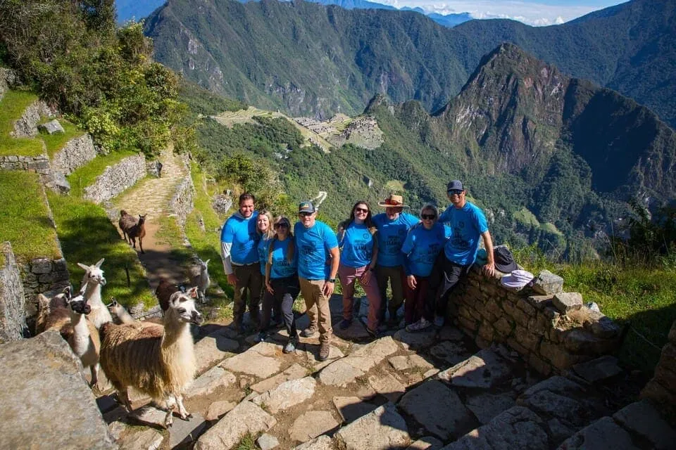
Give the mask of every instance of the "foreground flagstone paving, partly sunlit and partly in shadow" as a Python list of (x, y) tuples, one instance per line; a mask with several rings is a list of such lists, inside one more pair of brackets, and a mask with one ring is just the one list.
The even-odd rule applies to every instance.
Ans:
[[(341, 303), (332, 298), (334, 323)], [(299, 329), (307, 320), (299, 317)], [(284, 330), (255, 345), (228, 327), (199, 333), (189, 421), (163, 430), (152, 406), (127, 415), (109, 395), (99, 398), (120, 448), (649, 449), (676, 437), (646, 402), (622, 409), (628, 401), (616, 394), (623, 375), (612, 356), (542, 380), (516, 352), (478, 349), (453, 326), (392, 330), (368, 342), (354, 321), (334, 330), (324, 362), (317, 338), (283, 354)]]

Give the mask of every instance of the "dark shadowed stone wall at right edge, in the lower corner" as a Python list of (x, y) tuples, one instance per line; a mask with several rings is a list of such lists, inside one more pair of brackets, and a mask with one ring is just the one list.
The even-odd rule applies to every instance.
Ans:
[(655, 376), (644, 387), (641, 397), (663, 406), (672, 424), (676, 425), (676, 321), (668, 339), (655, 366)]

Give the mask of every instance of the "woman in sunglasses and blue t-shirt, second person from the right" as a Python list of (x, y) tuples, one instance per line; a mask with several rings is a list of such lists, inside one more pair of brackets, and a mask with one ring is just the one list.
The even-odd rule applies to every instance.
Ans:
[(406, 240), (401, 246), (404, 255), (403, 269), (406, 272), (403, 319), (407, 326), (423, 316), (432, 266), (444, 250), (446, 239), (451, 235), (451, 229), (437, 221), (439, 210), (436, 206), (423, 206), (420, 210), (420, 219), (422, 222), (408, 231)]

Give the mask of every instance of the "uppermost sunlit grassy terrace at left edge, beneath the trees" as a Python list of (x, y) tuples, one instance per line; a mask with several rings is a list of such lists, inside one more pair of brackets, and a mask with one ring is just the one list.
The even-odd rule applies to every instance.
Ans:
[(0, 101), (0, 156), (37, 156), (42, 155), (42, 142), (39, 139), (13, 138), (13, 122), (23, 115), (28, 105), (37, 100), (35, 94), (24, 91), (7, 91)]

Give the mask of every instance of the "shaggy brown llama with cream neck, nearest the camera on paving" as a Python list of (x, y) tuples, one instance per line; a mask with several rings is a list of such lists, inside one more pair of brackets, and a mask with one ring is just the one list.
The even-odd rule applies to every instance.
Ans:
[(104, 323), (101, 333), (101, 367), (129, 411), (127, 389), (147, 394), (167, 407), (165, 425), (173, 423), (172, 411), (178, 406), (182, 419), (190, 417), (183, 405), (183, 392), (192, 382), (196, 361), (190, 323), (202, 316), (195, 309), (197, 288), (177, 291), (168, 300), (164, 326), (138, 328), (133, 325)]

